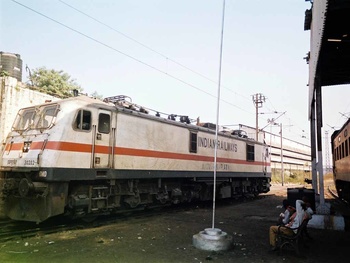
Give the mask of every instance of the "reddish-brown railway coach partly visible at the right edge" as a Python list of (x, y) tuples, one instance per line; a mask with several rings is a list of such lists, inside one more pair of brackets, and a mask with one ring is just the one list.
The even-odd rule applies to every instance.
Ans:
[(350, 119), (332, 134), (333, 176), (338, 196), (350, 202)]

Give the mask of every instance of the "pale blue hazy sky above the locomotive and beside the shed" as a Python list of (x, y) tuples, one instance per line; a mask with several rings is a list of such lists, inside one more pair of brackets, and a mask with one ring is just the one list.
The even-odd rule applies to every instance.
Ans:
[[(255, 127), (252, 95), (265, 97), (259, 128), (310, 144), (310, 31), (304, 0), (0, 0), (0, 51), (63, 70), (103, 97), (220, 125)], [(221, 32), (223, 29), (223, 41)], [(323, 131), (350, 115), (348, 85), (323, 87)], [(336, 103), (334, 103), (336, 102)], [(284, 114), (283, 114), (284, 113)]]

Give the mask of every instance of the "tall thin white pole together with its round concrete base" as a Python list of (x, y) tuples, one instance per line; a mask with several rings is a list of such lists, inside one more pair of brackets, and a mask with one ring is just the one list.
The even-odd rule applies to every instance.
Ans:
[(206, 228), (204, 231), (200, 231), (198, 234), (193, 235), (193, 245), (196, 248), (207, 251), (221, 251), (228, 250), (232, 247), (232, 236), (221, 231), (215, 226), (215, 197), (216, 197), (216, 161), (217, 161), (217, 149), (218, 149), (218, 129), (219, 129), (219, 109), (220, 109), (220, 83), (221, 83), (221, 61), (222, 61), (222, 43), (224, 36), (224, 17), (225, 17), (225, 0), (223, 0), (222, 10), (222, 27), (221, 27), (221, 46), (220, 46), (220, 66), (219, 66), (219, 81), (218, 81), (218, 97), (217, 97), (217, 109), (216, 109), (216, 129), (215, 129), (215, 152), (214, 152), (214, 189), (213, 189), (213, 220), (212, 227)]

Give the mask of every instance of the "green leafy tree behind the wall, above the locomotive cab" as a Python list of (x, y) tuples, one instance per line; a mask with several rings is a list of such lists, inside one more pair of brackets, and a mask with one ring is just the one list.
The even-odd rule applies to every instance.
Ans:
[(71, 76), (62, 70), (56, 71), (40, 67), (34, 69), (30, 75), (32, 86), (29, 88), (51, 96), (67, 98), (73, 96), (73, 90), (81, 92), (83, 89), (72, 79)]

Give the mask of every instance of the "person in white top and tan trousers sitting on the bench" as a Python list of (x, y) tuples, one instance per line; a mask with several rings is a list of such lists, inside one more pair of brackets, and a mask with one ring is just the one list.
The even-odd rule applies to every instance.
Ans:
[[(303, 199), (307, 201), (306, 198), (303, 198)], [(278, 247), (276, 246), (276, 237), (277, 237), (278, 231), (282, 232), (285, 235), (291, 236), (298, 231), (297, 228), (301, 225), (304, 219), (310, 219), (310, 216), (311, 216), (310, 210), (312, 211), (312, 209), (306, 212), (308, 208), (305, 201), (296, 200), (295, 202), (296, 212), (290, 217), (290, 222), (286, 224), (285, 227), (280, 227), (280, 226), (270, 227), (269, 237), (270, 237), (270, 246), (272, 251), (276, 251), (278, 249)]]

